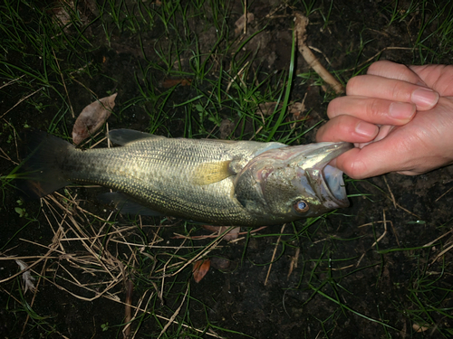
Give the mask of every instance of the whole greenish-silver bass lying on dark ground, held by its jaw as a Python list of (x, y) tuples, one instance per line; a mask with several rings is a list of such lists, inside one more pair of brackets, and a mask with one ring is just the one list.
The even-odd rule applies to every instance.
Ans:
[(39, 198), (68, 184), (99, 184), (121, 213), (172, 216), (221, 226), (265, 226), (349, 206), (342, 171), (328, 165), (349, 143), (168, 138), (116, 129), (119, 146), (82, 150), (35, 131), (22, 192)]

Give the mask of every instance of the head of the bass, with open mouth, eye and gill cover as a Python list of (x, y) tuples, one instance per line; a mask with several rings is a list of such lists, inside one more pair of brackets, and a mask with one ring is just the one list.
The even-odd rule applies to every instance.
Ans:
[(347, 207), (342, 171), (328, 164), (352, 147), (318, 143), (257, 155), (236, 175), (236, 199), (251, 214), (275, 223)]

